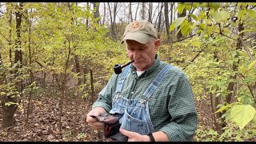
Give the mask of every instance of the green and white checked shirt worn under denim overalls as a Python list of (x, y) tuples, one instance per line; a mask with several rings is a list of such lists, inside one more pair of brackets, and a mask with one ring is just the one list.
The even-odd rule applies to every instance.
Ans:
[[(154, 65), (138, 77), (134, 66), (122, 86), (121, 95), (125, 98), (142, 98), (142, 94), (154, 78), (166, 66), (157, 55)], [(104, 89), (98, 94), (93, 108), (102, 106), (107, 112), (111, 109), (112, 98), (118, 82), (118, 74), (113, 74)], [(190, 82), (175, 66), (162, 79), (149, 100), (150, 118), (154, 130), (161, 130), (170, 141), (191, 141), (198, 126), (198, 114), (194, 105)]]

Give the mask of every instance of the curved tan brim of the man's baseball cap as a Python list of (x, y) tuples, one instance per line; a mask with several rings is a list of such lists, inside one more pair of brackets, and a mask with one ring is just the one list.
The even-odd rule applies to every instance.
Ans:
[(125, 35), (125, 37), (122, 39), (122, 42), (125, 42), (127, 39), (134, 40), (137, 42), (140, 42), (142, 44), (146, 44), (146, 42), (150, 41), (150, 35), (144, 34), (144, 33), (128, 33)]

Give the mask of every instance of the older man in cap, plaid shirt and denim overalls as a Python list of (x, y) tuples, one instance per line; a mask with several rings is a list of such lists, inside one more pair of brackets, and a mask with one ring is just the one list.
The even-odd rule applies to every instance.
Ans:
[(90, 115), (118, 115), (120, 133), (128, 141), (191, 141), (198, 125), (193, 93), (186, 74), (159, 59), (157, 31), (146, 20), (126, 26), (122, 43), (131, 61), (122, 74), (113, 74), (99, 93), (86, 122), (103, 123)]

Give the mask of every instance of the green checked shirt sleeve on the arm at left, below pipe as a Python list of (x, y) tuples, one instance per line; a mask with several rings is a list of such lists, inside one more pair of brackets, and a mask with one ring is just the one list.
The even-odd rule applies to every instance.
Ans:
[(112, 97), (114, 94), (115, 80), (117, 79), (117, 74), (113, 74), (107, 82), (106, 86), (98, 94), (98, 99), (94, 102), (92, 108), (102, 107), (106, 112), (110, 112), (112, 107)]

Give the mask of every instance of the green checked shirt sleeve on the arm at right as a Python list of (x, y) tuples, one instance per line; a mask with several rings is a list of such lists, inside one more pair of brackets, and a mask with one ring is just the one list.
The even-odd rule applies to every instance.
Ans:
[(170, 90), (168, 110), (170, 123), (160, 130), (170, 141), (192, 141), (198, 126), (198, 114), (194, 106), (194, 94), (185, 74), (178, 80), (174, 90)]

